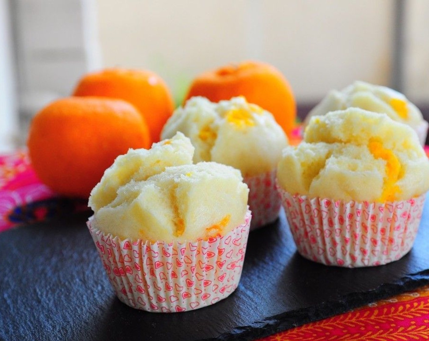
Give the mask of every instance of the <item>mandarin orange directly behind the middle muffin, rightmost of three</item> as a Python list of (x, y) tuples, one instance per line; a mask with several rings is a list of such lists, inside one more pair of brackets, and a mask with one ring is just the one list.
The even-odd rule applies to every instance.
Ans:
[(244, 96), (249, 103), (271, 112), (288, 136), (295, 126), (292, 88), (281, 72), (267, 63), (244, 61), (203, 72), (193, 79), (185, 101), (193, 96), (207, 97), (212, 102)]

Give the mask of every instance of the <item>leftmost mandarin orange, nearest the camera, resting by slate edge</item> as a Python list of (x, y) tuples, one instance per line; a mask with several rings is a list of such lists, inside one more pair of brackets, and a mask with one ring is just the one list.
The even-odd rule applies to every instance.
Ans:
[(68, 97), (35, 115), (27, 146), (44, 184), (65, 196), (88, 198), (115, 157), (150, 143), (148, 127), (130, 103)]

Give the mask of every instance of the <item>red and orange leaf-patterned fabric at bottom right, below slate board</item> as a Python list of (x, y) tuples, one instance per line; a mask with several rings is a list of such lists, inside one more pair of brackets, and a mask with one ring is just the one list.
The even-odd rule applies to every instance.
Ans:
[(429, 286), (260, 341), (396, 341), (429, 339)]

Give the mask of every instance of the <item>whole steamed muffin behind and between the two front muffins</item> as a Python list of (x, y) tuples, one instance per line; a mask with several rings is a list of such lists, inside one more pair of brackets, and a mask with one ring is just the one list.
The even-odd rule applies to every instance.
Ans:
[(287, 137), (273, 116), (244, 97), (212, 103), (193, 97), (176, 109), (161, 133), (190, 138), (194, 162), (214, 161), (239, 169), (250, 188), (253, 227), (275, 220), (280, 200), (275, 191), (275, 169)]

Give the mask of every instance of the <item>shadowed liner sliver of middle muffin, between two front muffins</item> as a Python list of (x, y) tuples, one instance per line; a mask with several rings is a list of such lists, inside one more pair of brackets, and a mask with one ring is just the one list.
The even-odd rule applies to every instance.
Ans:
[(281, 198), (275, 187), (276, 170), (255, 176), (245, 176), (249, 187), (249, 207), (252, 211), (250, 230), (272, 223), (277, 219)]

